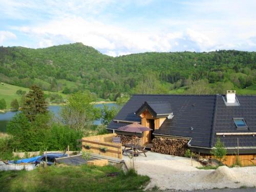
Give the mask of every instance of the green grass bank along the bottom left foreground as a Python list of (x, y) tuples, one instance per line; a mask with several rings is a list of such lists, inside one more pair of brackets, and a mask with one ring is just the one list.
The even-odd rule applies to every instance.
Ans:
[[(115, 177), (107, 174), (119, 172)], [(150, 180), (114, 166), (51, 166), (0, 172), (1, 191), (142, 191)]]

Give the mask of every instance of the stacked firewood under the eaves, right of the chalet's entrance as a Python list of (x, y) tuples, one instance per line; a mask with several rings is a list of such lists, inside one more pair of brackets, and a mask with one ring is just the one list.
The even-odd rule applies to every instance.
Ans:
[(155, 138), (152, 140), (151, 151), (167, 155), (184, 156), (188, 148), (187, 142), (187, 140), (181, 139)]

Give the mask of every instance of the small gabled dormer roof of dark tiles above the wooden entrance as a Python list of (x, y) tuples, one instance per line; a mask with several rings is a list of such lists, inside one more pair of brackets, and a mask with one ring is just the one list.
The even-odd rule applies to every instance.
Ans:
[(154, 117), (167, 117), (172, 113), (172, 107), (169, 102), (161, 102), (161, 101), (145, 101), (141, 107), (135, 112), (136, 115), (140, 115), (142, 112), (147, 109)]

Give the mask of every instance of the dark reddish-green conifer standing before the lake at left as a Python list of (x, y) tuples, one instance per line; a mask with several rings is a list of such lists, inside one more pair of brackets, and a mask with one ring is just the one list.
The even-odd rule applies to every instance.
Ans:
[(48, 105), (44, 98), (44, 92), (39, 87), (32, 86), (30, 89), (31, 91), (25, 95), (22, 111), (30, 121), (33, 121), (37, 114), (48, 113)]

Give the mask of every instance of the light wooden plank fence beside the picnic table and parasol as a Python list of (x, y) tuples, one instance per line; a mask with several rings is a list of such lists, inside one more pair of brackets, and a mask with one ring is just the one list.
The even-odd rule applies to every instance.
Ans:
[(108, 156), (116, 159), (122, 159), (122, 144), (114, 143), (113, 137), (117, 134), (105, 134), (91, 137), (83, 137), (78, 141), (82, 142), (82, 151), (96, 155)]

